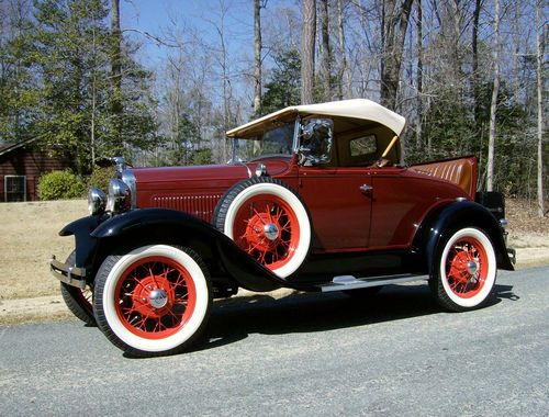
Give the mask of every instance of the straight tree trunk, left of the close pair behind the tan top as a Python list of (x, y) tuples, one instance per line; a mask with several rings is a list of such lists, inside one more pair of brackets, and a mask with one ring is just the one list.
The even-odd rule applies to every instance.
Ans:
[(315, 32), (315, 0), (303, 0), (303, 29), (301, 32), (301, 104), (310, 104), (314, 101)]

